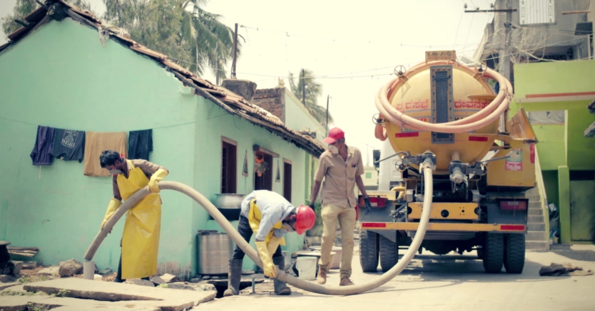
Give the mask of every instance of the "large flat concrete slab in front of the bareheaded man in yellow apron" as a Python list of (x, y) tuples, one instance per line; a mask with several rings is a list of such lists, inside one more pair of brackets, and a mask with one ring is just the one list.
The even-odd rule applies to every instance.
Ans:
[[(115, 282), (97, 282), (90, 279), (61, 278), (24, 285), (27, 291), (44, 291), (48, 294), (64, 294), (66, 297), (102, 301), (149, 300), (143, 306), (158, 306), (164, 311), (189, 309), (199, 303), (215, 298), (215, 291), (181, 291)], [(135, 301), (139, 303), (139, 301)]]

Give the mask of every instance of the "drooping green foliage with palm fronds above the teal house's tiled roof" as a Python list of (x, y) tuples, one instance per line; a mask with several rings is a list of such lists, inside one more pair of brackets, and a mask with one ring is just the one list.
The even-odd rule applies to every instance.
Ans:
[[(233, 58), (233, 30), (221, 15), (201, 8), (206, 0), (103, 0), (104, 20), (150, 49), (201, 76), (205, 67), (225, 78)], [(240, 51), (238, 42), (238, 54)], [(219, 70), (217, 70), (219, 68)]]

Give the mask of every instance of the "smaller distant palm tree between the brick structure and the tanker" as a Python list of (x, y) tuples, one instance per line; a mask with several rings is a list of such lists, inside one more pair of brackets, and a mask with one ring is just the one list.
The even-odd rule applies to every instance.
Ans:
[[(314, 74), (312, 71), (302, 68), (300, 71), (300, 76), (297, 80), (297, 84), (295, 83), (295, 78), (293, 77), (293, 73), (289, 73), (289, 86), (297, 99), (300, 102), (304, 103), (304, 106), (312, 117), (314, 117), (320, 124), (327, 125), (327, 110), (322, 106), (318, 105), (318, 96), (322, 95), (322, 84), (317, 83), (314, 79)], [(304, 89), (305, 87), (305, 89)], [(303, 94), (305, 93), (305, 100), (302, 99)], [(328, 114), (328, 122), (332, 122), (333, 117)]]

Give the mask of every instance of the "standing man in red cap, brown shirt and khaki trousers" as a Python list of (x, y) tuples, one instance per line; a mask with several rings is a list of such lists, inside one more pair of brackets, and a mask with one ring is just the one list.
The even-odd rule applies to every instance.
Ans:
[[(339, 285), (353, 285), (351, 277), (351, 260), (353, 257), (353, 230), (355, 229), (357, 199), (353, 188), (358, 185), (364, 196), (366, 207), (371, 207), (368, 194), (364, 189), (361, 175), (364, 174), (362, 155), (356, 147), (345, 144), (345, 133), (336, 127), (328, 131), (322, 142), (328, 144), (328, 150), (320, 156), (318, 171), (314, 178), (314, 187), (310, 197), (310, 207), (314, 202), (322, 183), (322, 246), (316, 281), (324, 284), (330, 266), (330, 254), (336, 234), (337, 221), (341, 227), (341, 281)], [(324, 182), (322, 179), (324, 178)]]

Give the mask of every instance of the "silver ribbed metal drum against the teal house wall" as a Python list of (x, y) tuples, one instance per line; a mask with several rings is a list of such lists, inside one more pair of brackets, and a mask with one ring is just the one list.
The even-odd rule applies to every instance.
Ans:
[(227, 274), (233, 241), (227, 233), (216, 230), (199, 230), (196, 235), (198, 247), (198, 274)]

